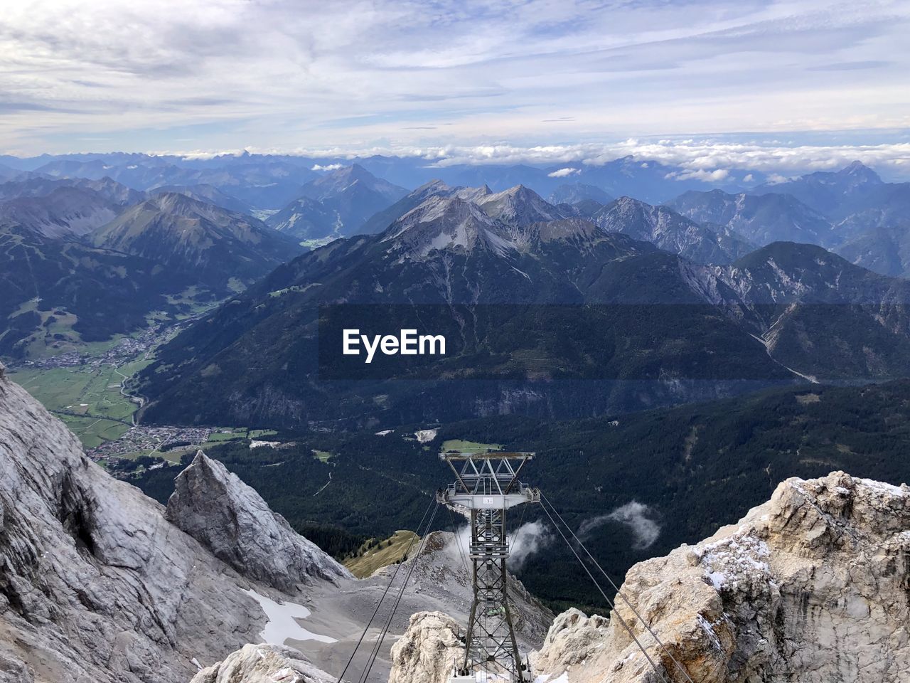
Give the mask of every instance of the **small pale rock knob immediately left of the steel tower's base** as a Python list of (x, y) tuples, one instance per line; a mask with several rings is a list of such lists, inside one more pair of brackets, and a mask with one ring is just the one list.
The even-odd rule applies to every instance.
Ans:
[(446, 681), (452, 664), (464, 656), (463, 634), (455, 619), (441, 612), (418, 612), (392, 646), (389, 683)]

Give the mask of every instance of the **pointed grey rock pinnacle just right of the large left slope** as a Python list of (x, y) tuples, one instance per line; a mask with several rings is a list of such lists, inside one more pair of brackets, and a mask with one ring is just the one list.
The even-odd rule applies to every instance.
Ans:
[(177, 475), (167, 520), (243, 576), (285, 592), (349, 571), (294, 531), (237, 474), (202, 451)]

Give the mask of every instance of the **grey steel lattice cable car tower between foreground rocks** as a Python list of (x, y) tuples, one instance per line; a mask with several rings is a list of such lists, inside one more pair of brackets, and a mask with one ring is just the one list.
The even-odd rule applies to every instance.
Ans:
[(514, 683), (527, 678), (515, 639), (508, 595), (509, 558), (506, 513), (523, 503), (536, 503), (540, 491), (518, 479), (531, 453), (440, 454), (455, 473), (456, 482), (440, 490), (442, 505), (470, 511), (470, 561), (474, 599), (470, 606), (464, 659), (453, 681), (473, 681), (476, 672), (506, 677)]

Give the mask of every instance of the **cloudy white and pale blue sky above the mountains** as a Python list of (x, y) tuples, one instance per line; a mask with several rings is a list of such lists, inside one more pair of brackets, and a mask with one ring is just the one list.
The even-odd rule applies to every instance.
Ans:
[(898, 165), (907, 36), (907, 0), (18, 0), (0, 151), (707, 144)]

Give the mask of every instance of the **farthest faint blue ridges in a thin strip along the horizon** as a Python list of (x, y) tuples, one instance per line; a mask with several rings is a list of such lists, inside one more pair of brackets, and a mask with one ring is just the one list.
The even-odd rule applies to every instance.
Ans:
[[(303, 184), (319, 178), (333, 168), (348, 167), (352, 160), (247, 152), (215, 157), (149, 156), (114, 152), (41, 155), (34, 158), (6, 156), (0, 158), (0, 163), (9, 168), (7, 177), (23, 173), (51, 178), (109, 177), (130, 188), (141, 190), (160, 186), (208, 184), (247, 202), (255, 209), (278, 210), (299, 198), (299, 189)], [(404, 188), (416, 188), (430, 178), (440, 178), (452, 186), (476, 187), (486, 184), (494, 191), (525, 185), (544, 197), (567, 183), (596, 187), (612, 197), (629, 195), (652, 203), (671, 199), (690, 189), (717, 187), (716, 182), (700, 178), (698, 174), (687, 172), (680, 166), (631, 156), (600, 165), (474, 165), (435, 163), (420, 157), (389, 156), (361, 157), (356, 159), (356, 164), (377, 178)], [(742, 191), (764, 179), (759, 171), (731, 168), (719, 187), (728, 191)]]

